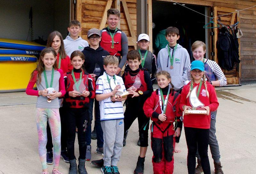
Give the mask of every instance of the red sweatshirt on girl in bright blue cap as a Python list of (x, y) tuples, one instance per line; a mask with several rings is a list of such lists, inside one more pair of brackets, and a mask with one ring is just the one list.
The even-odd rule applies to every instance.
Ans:
[[(189, 97), (187, 98), (189, 89), (190, 89), (190, 83), (185, 85), (181, 92), (181, 100), (180, 100), (180, 109), (183, 111), (183, 106), (191, 106), (189, 103)], [(193, 88), (198, 86), (199, 83), (194, 83)], [(204, 83), (201, 86), (201, 90), (199, 93), (199, 100), (204, 104), (204, 106), (209, 106), (210, 111), (216, 111), (219, 102), (217, 99), (217, 95), (215, 92), (214, 87), (210, 83), (206, 83), (207, 85), (207, 91), (209, 92), (209, 97), (206, 95)], [(200, 128), (200, 129), (210, 129), (210, 122), (211, 122), (211, 116), (209, 115), (196, 115), (196, 114), (188, 114), (184, 115), (183, 123), (184, 127), (192, 127), (192, 128)]]

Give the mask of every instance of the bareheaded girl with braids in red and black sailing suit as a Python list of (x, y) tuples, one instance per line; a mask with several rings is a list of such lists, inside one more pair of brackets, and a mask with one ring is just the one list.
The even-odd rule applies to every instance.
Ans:
[[(173, 173), (173, 152), (175, 137), (180, 136), (180, 94), (175, 92), (171, 83), (171, 76), (167, 71), (156, 74), (159, 88), (154, 91), (144, 103), (144, 113), (152, 120), (151, 147), (153, 150), (154, 174)], [(169, 83), (172, 88), (169, 88)], [(174, 131), (173, 123), (178, 122)]]

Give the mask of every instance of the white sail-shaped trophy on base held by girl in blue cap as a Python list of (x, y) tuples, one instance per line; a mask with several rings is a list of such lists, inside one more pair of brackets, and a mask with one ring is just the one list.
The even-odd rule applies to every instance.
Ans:
[(185, 114), (208, 114), (207, 110), (202, 108), (204, 104), (196, 96), (197, 88), (198, 86), (191, 90), (191, 93), (189, 95), (189, 103), (192, 108), (188, 108), (187, 110), (185, 110)]

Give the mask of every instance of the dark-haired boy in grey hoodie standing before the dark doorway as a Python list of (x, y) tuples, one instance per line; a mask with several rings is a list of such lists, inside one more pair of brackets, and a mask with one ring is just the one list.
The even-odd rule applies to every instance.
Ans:
[[(165, 38), (169, 44), (158, 53), (156, 61), (157, 71), (167, 71), (170, 73), (174, 90), (181, 93), (183, 85), (189, 82), (186, 74), (187, 67), (190, 65), (189, 54), (185, 48), (177, 44), (177, 40), (180, 38), (178, 28), (168, 27)], [(178, 127), (182, 127), (182, 122), (178, 123), (181, 124)], [(180, 136), (175, 137), (175, 153), (180, 153), (179, 142)]]

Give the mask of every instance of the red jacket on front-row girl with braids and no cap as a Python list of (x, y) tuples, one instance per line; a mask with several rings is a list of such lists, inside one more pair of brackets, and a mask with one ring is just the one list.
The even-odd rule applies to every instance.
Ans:
[[(165, 112), (167, 119), (164, 122), (161, 122), (158, 118), (153, 117), (154, 112), (156, 112), (158, 115), (162, 113), (159, 105), (158, 90), (154, 91), (144, 103), (143, 110), (145, 115), (150, 117), (154, 124), (156, 124), (162, 131), (164, 131), (170, 123), (175, 121), (175, 117), (179, 118), (182, 116), (182, 111), (180, 110), (180, 94), (177, 93), (178, 96), (173, 101), (175, 93), (177, 92), (170, 91)], [(165, 97), (166, 95), (164, 95), (164, 98)]]

